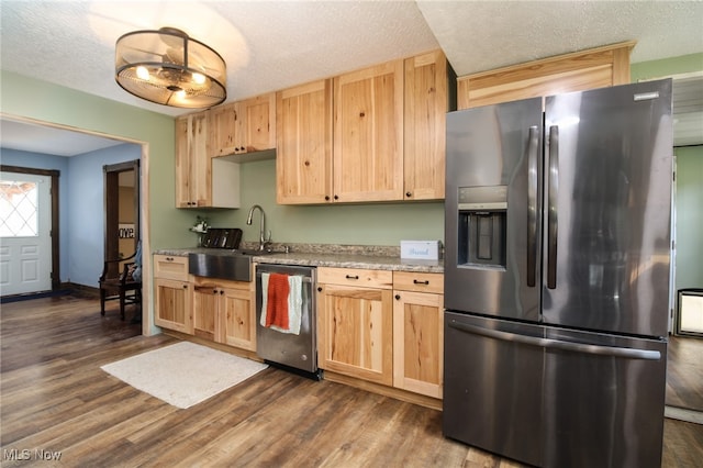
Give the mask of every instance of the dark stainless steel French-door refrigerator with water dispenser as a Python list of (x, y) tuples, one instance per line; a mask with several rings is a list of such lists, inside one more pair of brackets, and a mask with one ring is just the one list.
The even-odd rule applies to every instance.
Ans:
[(447, 114), (444, 434), (659, 467), (671, 81)]

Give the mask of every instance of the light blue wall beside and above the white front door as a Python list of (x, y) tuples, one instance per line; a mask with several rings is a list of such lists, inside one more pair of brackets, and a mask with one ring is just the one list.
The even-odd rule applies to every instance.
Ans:
[(140, 159), (140, 145), (122, 144), (72, 157), (2, 148), (3, 165), (55, 169), (59, 192), (62, 282), (98, 287), (104, 258), (102, 166)]

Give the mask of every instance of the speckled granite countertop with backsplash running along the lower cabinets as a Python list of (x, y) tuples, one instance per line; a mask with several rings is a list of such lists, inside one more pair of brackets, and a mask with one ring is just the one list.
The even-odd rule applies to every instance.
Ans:
[[(255, 245), (242, 245), (253, 249)], [(289, 247), (290, 252), (284, 253)], [(393, 271), (444, 272), (444, 260), (409, 260), (400, 258), (400, 248), (384, 246), (333, 246), (333, 245), (272, 245), (272, 252), (253, 254), (257, 264), (302, 265), (312, 267), (368, 268)], [(188, 256), (190, 253), (211, 255), (241, 255), (236, 250), (217, 248), (158, 249), (154, 254)]]

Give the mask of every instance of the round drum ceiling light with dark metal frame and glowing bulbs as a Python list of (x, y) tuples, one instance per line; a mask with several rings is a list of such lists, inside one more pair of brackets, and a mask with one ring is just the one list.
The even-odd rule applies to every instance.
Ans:
[(172, 27), (120, 37), (115, 80), (134, 96), (176, 108), (209, 108), (227, 97), (224, 59)]

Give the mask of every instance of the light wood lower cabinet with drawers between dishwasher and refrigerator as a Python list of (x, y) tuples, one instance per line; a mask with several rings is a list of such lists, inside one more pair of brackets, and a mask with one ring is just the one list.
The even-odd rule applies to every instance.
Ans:
[(321, 368), (442, 399), (444, 276), (317, 268)]

